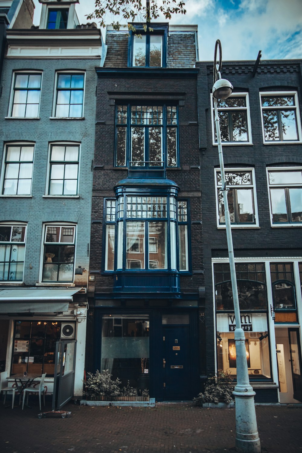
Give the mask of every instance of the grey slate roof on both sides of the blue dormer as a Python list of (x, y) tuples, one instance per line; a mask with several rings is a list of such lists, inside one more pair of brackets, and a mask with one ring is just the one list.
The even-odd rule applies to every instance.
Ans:
[[(108, 46), (104, 67), (127, 67), (128, 33), (107, 31)], [(194, 32), (169, 32), (168, 34), (168, 68), (195, 67), (196, 49)]]

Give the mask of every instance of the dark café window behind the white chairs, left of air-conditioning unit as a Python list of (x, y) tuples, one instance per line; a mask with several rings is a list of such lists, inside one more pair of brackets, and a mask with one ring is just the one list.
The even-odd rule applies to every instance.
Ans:
[(46, 373), (54, 376), (60, 321), (15, 321), (12, 374)]

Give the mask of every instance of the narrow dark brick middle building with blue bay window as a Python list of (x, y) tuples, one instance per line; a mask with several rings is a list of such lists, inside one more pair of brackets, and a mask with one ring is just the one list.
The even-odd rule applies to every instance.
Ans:
[(203, 363), (197, 27), (136, 27), (107, 28), (96, 68), (86, 368), (182, 400)]

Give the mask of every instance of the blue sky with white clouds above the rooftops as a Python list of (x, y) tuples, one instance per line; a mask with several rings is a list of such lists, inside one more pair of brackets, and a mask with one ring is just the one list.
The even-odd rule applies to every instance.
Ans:
[[(225, 61), (256, 60), (259, 50), (263, 60), (302, 58), (302, 0), (183, 1), (187, 14), (173, 15), (170, 23), (198, 25), (202, 61), (214, 59), (216, 39), (221, 40)], [(34, 3), (38, 25), (41, 5), (38, 0)], [(80, 23), (87, 22), (85, 14), (94, 8), (94, 0), (80, 0), (76, 6)]]

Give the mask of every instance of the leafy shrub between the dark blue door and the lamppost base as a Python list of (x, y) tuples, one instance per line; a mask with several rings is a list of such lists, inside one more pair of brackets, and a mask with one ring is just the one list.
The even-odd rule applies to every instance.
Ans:
[(193, 404), (202, 406), (202, 403), (230, 403), (233, 400), (232, 393), (234, 390), (234, 387), (230, 386), (232, 381), (230, 371), (218, 370), (215, 376), (206, 381), (204, 392), (199, 393), (193, 399)]

